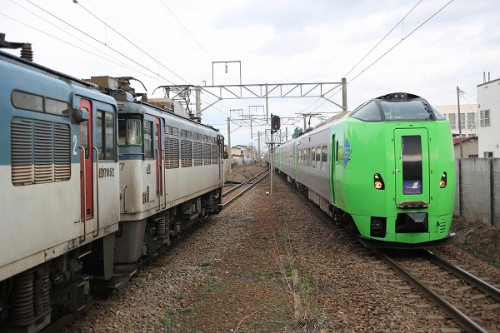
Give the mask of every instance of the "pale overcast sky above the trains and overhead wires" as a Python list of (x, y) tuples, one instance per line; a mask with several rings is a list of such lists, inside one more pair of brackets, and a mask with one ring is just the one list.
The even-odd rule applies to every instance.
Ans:
[[(457, 86), (461, 103), (474, 104), (483, 73), (500, 78), (498, 0), (0, 1), (0, 32), (32, 43), (35, 62), (77, 78), (134, 76), (148, 94), (159, 85), (212, 79), (219, 85), (345, 77), (349, 109), (395, 91), (456, 104)], [(224, 64), (213, 64), (220, 61), (239, 62), (228, 63), (226, 73)], [(337, 89), (328, 95), (338, 104), (341, 96)], [(212, 102), (202, 96), (202, 107)], [(229, 110), (243, 110), (231, 112), (241, 119), (262, 115), (264, 104), (223, 100), (204, 111), (203, 122), (227, 136)], [(290, 135), (303, 126), (301, 113), (338, 111), (319, 98), (269, 102)], [(319, 121), (313, 117), (311, 125)], [(265, 127), (253, 125), (255, 144)], [(231, 126), (232, 145), (250, 144), (249, 127)]]

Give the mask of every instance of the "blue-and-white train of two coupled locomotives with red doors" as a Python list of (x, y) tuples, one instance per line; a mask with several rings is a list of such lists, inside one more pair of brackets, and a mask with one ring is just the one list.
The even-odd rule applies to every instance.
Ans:
[(218, 212), (223, 137), (0, 52), (0, 331), (37, 332)]

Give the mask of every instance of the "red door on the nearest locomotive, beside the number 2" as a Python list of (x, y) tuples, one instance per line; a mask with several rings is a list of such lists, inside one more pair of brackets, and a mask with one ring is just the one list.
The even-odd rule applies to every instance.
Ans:
[(89, 114), (89, 119), (80, 123), (80, 196), (81, 219), (84, 221), (94, 217), (92, 103), (81, 99), (80, 109), (86, 110)]

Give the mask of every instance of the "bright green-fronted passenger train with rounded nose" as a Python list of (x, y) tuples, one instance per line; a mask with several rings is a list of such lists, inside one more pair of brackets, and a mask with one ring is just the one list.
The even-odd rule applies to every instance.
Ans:
[(409, 93), (373, 98), (275, 149), (275, 169), (368, 246), (451, 240), (449, 121)]

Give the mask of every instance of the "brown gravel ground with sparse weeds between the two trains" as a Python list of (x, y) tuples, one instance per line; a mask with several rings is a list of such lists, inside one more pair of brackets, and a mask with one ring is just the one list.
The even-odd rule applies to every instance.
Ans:
[(459, 332), (273, 179), (272, 195), (268, 177), (65, 332)]

